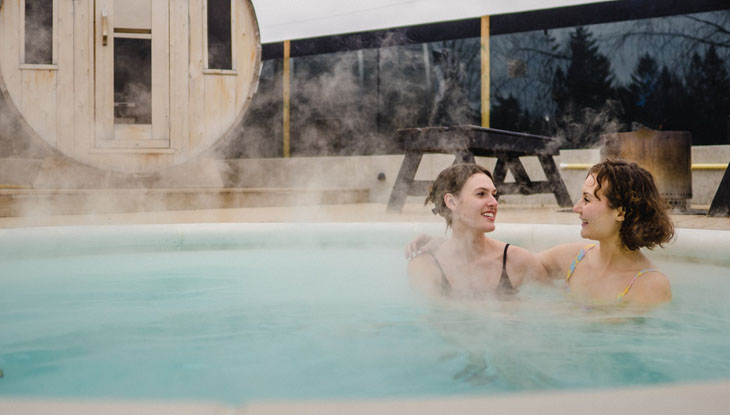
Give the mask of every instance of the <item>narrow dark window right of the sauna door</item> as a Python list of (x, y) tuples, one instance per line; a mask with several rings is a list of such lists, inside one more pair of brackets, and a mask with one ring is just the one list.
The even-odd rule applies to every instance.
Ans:
[(233, 69), (231, 0), (208, 0), (208, 68)]

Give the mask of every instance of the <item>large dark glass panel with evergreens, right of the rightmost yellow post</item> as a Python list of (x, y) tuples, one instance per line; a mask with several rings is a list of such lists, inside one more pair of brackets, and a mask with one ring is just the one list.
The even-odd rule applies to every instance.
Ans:
[(493, 36), (492, 126), (593, 146), (641, 126), (728, 144), (730, 10)]

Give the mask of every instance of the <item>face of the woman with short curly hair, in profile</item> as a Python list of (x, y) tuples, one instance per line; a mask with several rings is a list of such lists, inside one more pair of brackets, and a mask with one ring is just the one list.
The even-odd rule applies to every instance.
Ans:
[(583, 238), (599, 241), (618, 236), (623, 214), (619, 209), (613, 209), (608, 205), (604, 194), (607, 185), (604, 183), (596, 195), (598, 187), (596, 176), (590, 174), (583, 182), (581, 198), (573, 206), (573, 212), (577, 213), (581, 220), (580, 236)]

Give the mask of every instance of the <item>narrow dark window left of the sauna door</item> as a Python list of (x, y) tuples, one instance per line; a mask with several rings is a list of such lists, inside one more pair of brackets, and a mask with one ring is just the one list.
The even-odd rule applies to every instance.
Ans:
[(52, 0), (25, 0), (25, 63), (53, 63)]

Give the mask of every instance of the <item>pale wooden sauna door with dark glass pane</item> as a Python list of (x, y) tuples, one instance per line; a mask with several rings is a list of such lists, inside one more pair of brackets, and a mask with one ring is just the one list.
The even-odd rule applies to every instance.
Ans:
[(94, 13), (94, 147), (169, 148), (168, 2), (96, 0)]

